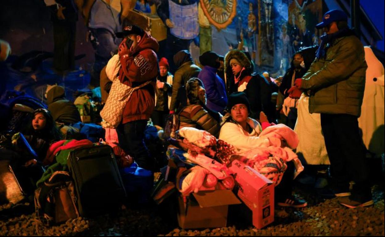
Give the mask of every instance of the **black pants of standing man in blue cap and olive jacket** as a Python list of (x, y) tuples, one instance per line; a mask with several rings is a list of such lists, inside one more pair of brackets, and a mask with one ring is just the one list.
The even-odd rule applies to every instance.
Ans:
[(350, 114), (321, 114), (321, 128), (335, 185), (346, 187), (353, 180), (351, 199), (367, 201), (372, 193), (357, 119)]

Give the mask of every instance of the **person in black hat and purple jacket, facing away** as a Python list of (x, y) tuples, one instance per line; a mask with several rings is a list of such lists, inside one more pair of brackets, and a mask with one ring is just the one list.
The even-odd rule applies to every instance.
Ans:
[(199, 56), (199, 61), (204, 66), (198, 74), (198, 78), (203, 82), (207, 95), (207, 108), (222, 112), (227, 105), (226, 88), (222, 79), (216, 74), (221, 63), (219, 55), (212, 51), (207, 51)]

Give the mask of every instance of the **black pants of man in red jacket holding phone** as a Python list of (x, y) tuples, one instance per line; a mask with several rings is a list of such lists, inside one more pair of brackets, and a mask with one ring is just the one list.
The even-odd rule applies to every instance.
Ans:
[(153, 170), (155, 160), (151, 158), (150, 153), (144, 143), (144, 130), (146, 130), (147, 121), (137, 120), (123, 124), (124, 136), (127, 141), (129, 154), (139, 167), (147, 170)]

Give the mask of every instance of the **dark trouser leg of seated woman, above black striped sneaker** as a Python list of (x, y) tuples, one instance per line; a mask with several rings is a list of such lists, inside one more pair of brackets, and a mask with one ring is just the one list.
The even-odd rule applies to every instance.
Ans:
[(274, 199), (276, 202), (285, 202), (287, 198), (291, 197), (293, 191), (293, 177), (294, 177), (294, 163), (289, 161), (286, 163), (287, 169), (283, 173), (282, 180), (274, 190)]

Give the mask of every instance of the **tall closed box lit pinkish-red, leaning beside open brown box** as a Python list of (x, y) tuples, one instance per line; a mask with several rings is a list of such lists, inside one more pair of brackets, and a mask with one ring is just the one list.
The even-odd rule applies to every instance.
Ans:
[(253, 225), (261, 229), (273, 222), (273, 182), (238, 160), (233, 160), (229, 169), (234, 172), (239, 199), (253, 212)]

